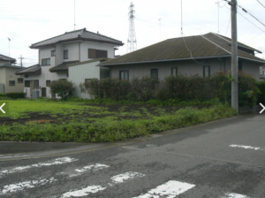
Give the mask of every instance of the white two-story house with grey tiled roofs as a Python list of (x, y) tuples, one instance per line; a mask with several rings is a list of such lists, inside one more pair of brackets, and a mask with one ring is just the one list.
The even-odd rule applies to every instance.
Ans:
[(57, 97), (49, 92), (52, 80), (68, 80), (68, 66), (99, 57), (115, 57), (115, 50), (124, 43), (102, 34), (84, 29), (65, 32), (42, 42), (36, 42), (31, 49), (39, 50), (39, 64), (16, 72), (25, 76), (25, 92), (31, 97), (34, 88), (40, 96)]

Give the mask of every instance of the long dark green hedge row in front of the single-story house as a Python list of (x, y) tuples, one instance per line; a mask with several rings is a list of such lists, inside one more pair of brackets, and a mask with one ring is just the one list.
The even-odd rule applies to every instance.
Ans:
[[(94, 98), (114, 100), (148, 101), (157, 99), (194, 100), (218, 98), (231, 103), (231, 73), (216, 72), (207, 78), (199, 75), (178, 74), (164, 80), (143, 77), (133, 80), (103, 79), (90, 80), (79, 84), (81, 92), (87, 92)], [(265, 82), (258, 82), (249, 74), (239, 73), (239, 105), (254, 105), (264, 101)], [(261, 91), (260, 91), (261, 89)], [(257, 101), (257, 99), (259, 101)], [(260, 102), (261, 103), (261, 102)]]

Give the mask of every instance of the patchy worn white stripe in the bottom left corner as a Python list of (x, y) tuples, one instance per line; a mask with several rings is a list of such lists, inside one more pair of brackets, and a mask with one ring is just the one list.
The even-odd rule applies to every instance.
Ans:
[(27, 188), (33, 188), (33, 187), (45, 185), (47, 183), (52, 183), (56, 180), (57, 179), (54, 179), (54, 178), (40, 179), (40, 180), (27, 180), (24, 182), (19, 182), (17, 184), (6, 185), (3, 187), (3, 190), (0, 191), (0, 195), (16, 193), (18, 191), (21, 191)]

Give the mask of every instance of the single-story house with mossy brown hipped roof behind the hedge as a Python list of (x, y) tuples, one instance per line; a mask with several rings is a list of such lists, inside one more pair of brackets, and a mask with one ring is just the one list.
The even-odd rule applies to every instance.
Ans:
[[(261, 53), (238, 42), (239, 71), (260, 79), (260, 65), (265, 60), (255, 57)], [(163, 80), (169, 75), (183, 73), (208, 76), (231, 70), (231, 39), (221, 34), (208, 33), (178, 37), (135, 50), (101, 64), (110, 68), (111, 77), (132, 80), (133, 77), (152, 76)]]

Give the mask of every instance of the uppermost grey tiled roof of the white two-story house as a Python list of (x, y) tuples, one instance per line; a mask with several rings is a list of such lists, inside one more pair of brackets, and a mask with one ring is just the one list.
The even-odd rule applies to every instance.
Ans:
[(112, 43), (117, 46), (124, 45), (123, 42), (117, 41), (116, 39), (112, 39), (108, 36), (102, 35), (102, 34), (95, 34), (92, 32), (89, 32), (84, 29), (75, 30), (72, 32), (65, 32), (64, 34), (57, 35), (53, 38), (47, 39), (42, 42), (36, 42), (30, 46), (31, 49), (38, 49), (42, 46), (47, 46), (51, 44), (55, 44), (57, 42), (68, 42), (73, 40), (85, 40), (85, 41), (92, 41), (92, 42), (106, 42), (106, 43)]

